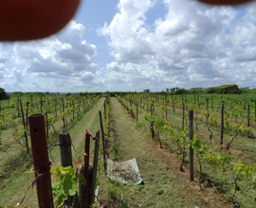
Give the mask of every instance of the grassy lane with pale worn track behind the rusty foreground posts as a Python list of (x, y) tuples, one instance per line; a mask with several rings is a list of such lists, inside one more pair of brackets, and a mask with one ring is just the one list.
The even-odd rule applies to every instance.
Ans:
[[(77, 159), (80, 149), (84, 148), (85, 130), (90, 129), (93, 133), (95, 133), (96, 130), (99, 130), (99, 111), (102, 110), (103, 100), (104, 98), (101, 98), (100, 101), (89, 112), (82, 116), (82, 119), (75, 125), (75, 127), (72, 130), (69, 130), (72, 143), (77, 150), (75, 153), (73, 153), (73, 160)], [(56, 141), (57, 140), (58, 138), (56, 138)], [(54, 158), (51, 169), (56, 166), (60, 166), (61, 159), (59, 147), (55, 147), (51, 151), (51, 156)], [(10, 206), (17, 204), (17, 202), (23, 198), (28, 185), (33, 179), (34, 174), (19, 175), (16, 177), (10, 177), (4, 182), (4, 184), (1, 184), (0, 208), (5, 207), (6, 205)], [(55, 180), (53, 179), (52, 181), (54, 182)], [(31, 208), (38, 207), (35, 187), (33, 190), (28, 192), (27, 198), (24, 200), (23, 205), (27, 205)]]

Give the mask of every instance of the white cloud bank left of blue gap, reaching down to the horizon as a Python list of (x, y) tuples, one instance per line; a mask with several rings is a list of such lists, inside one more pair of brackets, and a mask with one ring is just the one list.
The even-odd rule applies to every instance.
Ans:
[(13, 86), (9, 91), (17, 91), (15, 87), (22, 91), (69, 91), (77, 83), (81, 83), (82, 90), (84, 79), (93, 81), (99, 70), (93, 62), (97, 47), (83, 40), (84, 33), (82, 24), (71, 21), (59, 35), (42, 41), (14, 43), (11, 60), (7, 59), (5, 45), (0, 45), (0, 70), (6, 67), (6, 61), (13, 63), (11, 69), (2, 73), (9, 86)]

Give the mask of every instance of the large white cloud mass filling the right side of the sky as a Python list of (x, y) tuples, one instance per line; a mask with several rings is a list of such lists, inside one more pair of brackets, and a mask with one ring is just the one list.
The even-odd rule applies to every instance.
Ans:
[[(140, 90), (151, 85), (157, 91), (174, 86), (253, 85), (255, 4), (236, 9), (208, 7), (189, 0), (164, 0), (164, 18), (155, 19), (149, 26), (147, 11), (155, 2), (145, 1), (143, 6), (137, 2), (120, 1), (119, 12), (100, 30), (108, 38), (116, 60), (106, 66), (114, 82), (130, 83)], [(141, 62), (149, 79), (135, 70), (141, 69)], [(129, 77), (130, 73), (137, 81)]]

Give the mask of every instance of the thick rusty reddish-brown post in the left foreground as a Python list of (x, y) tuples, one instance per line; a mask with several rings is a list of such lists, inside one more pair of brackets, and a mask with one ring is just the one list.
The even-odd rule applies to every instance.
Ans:
[(28, 121), (39, 207), (54, 208), (44, 114), (32, 114)]

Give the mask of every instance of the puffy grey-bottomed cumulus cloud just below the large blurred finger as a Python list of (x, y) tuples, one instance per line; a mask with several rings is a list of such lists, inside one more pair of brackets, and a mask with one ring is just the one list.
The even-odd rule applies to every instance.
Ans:
[(34, 43), (15, 43), (15, 62), (27, 64), (25, 70), (39, 77), (80, 77), (91, 70), (96, 46), (82, 40), (85, 28), (72, 21), (60, 36)]

